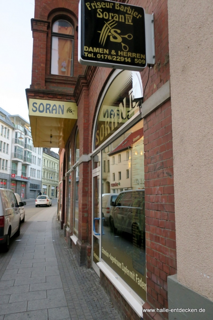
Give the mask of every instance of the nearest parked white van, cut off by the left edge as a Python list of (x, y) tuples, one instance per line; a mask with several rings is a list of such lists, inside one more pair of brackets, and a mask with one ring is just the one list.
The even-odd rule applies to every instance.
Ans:
[(0, 245), (4, 252), (9, 250), (10, 238), (14, 234), (20, 235), (21, 218), (14, 193), (9, 189), (0, 188)]

